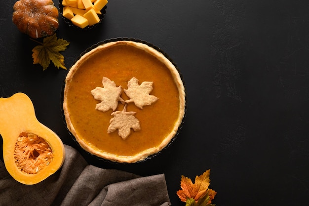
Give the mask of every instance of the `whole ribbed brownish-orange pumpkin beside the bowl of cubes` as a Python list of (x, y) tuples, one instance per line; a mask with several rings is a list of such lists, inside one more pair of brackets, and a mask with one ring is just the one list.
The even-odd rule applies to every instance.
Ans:
[(12, 20), (19, 31), (37, 39), (56, 32), (58, 15), (52, 0), (18, 0), (13, 6)]

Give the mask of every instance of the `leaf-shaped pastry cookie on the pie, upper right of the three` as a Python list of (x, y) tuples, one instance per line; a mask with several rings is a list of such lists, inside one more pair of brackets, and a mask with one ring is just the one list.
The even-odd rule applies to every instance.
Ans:
[(133, 77), (128, 82), (128, 89), (124, 89), (125, 94), (130, 97), (129, 100), (126, 100), (126, 103), (134, 102), (135, 106), (140, 109), (143, 109), (145, 105), (151, 105), (158, 98), (149, 93), (153, 90), (154, 82), (142, 82), (141, 85), (138, 84), (138, 79)]

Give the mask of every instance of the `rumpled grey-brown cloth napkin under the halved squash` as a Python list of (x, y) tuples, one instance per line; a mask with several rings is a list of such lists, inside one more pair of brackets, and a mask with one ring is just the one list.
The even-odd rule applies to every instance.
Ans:
[(14, 180), (0, 161), (0, 206), (171, 206), (164, 174), (99, 168), (65, 148), (62, 167), (35, 185)]

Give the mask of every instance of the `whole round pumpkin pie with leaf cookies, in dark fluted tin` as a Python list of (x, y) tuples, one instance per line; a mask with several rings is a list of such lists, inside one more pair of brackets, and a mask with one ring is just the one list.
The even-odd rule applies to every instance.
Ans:
[(176, 137), (185, 99), (184, 83), (166, 54), (144, 41), (115, 39), (87, 49), (71, 67), (63, 112), (85, 151), (135, 163)]

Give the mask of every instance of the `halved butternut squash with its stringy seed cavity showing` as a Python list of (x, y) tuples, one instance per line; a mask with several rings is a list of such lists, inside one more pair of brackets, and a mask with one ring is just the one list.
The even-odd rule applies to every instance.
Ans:
[(4, 165), (23, 184), (41, 182), (64, 162), (61, 139), (38, 121), (33, 103), (24, 93), (0, 98), (0, 134)]

